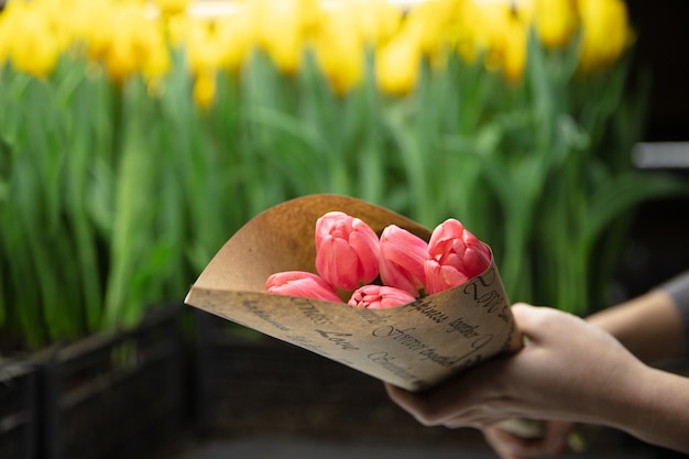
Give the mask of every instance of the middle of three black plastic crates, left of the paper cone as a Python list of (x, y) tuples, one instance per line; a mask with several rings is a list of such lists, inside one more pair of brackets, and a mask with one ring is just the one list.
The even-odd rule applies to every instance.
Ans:
[(147, 458), (186, 408), (178, 308), (130, 331), (92, 336), (43, 359), (42, 458)]

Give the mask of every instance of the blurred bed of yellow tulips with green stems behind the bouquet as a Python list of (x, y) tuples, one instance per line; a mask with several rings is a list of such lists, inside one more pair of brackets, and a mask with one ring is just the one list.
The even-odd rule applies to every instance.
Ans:
[(6, 342), (134, 326), (251, 217), (313, 193), (455, 217), (512, 300), (584, 314), (631, 210), (687, 193), (631, 164), (646, 90), (622, 0), (215, 3), (0, 13)]

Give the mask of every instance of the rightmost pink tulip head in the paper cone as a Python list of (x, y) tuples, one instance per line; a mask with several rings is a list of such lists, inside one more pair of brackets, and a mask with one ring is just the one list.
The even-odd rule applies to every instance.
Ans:
[(426, 289), (434, 294), (463, 284), (491, 264), (491, 252), (483, 242), (456, 219), (448, 219), (433, 231), (428, 241)]

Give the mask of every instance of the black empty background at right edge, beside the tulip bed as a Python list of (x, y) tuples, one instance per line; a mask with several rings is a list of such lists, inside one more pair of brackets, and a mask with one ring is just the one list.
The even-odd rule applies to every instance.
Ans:
[[(649, 72), (652, 90), (644, 142), (689, 142), (689, 1), (626, 0), (636, 31), (634, 66)], [(689, 181), (685, 165), (649, 170)], [(641, 206), (623, 256), (617, 298), (646, 292), (689, 269), (689, 198), (665, 198)]]

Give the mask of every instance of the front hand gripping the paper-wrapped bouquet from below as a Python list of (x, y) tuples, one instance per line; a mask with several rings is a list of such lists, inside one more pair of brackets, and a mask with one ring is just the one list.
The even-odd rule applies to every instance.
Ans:
[[(390, 397), (424, 425), (489, 426), (503, 419), (605, 424), (645, 367), (605, 331), (557, 309), (515, 305), (525, 347), (422, 393), (386, 385)], [(622, 414), (623, 415), (623, 414)], [(508, 456), (507, 456), (508, 457)], [(518, 457), (518, 456), (517, 456)]]

